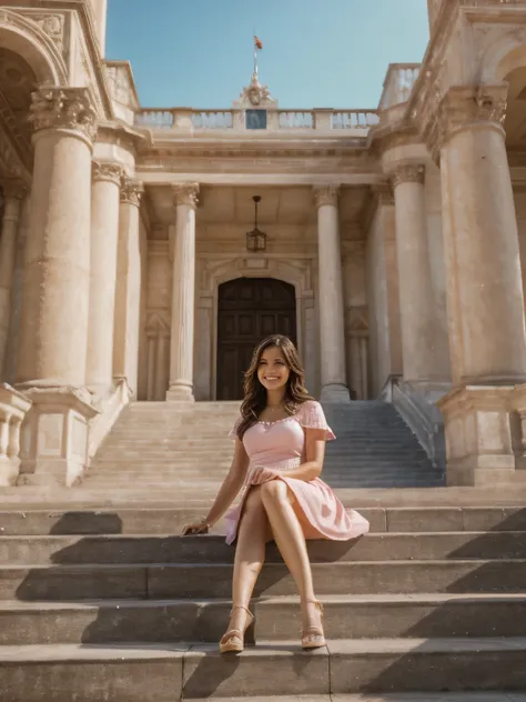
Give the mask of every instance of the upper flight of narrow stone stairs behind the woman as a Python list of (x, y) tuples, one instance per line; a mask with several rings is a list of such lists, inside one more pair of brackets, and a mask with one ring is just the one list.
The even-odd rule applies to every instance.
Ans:
[[(393, 405), (326, 405), (337, 441), (327, 444), (324, 479), (333, 488), (432, 487), (444, 482)], [(236, 402), (193, 405), (136, 402), (99, 449), (83, 487), (121, 497), (211, 499), (232, 460), (227, 433)]]

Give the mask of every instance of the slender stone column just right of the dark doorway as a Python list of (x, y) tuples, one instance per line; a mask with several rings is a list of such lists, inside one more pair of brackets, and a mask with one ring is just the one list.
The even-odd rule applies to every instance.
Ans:
[(348, 402), (337, 198), (340, 188), (314, 188), (317, 207), (322, 402)]

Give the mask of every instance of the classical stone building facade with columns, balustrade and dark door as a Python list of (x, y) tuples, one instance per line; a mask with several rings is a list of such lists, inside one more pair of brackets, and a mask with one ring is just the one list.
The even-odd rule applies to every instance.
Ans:
[(429, 0), (377, 109), (301, 111), (257, 72), (142, 107), (105, 4), (0, 4), (2, 484), (72, 484), (130, 399), (240, 399), (274, 332), (323, 401), (443, 418), (449, 483), (519, 479), (526, 0)]

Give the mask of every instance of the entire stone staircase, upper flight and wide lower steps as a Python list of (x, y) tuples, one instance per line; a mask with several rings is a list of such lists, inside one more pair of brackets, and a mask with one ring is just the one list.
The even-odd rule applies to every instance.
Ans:
[(325, 408), (324, 477), (372, 525), (308, 543), (327, 645), (301, 651), (269, 545), (256, 645), (220, 656), (234, 551), (222, 524), (179, 534), (230, 465), (237, 409), (131, 405), (82, 485), (0, 492), (1, 702), (525, 702), (526, 492), (433, 488), (383, 403)]

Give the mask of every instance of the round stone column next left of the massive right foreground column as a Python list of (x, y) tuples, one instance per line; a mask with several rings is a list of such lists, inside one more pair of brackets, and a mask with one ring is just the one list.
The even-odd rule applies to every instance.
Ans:
[(402, 163), (391, 173), (395, 198), (396, 258), (402, 312), (404, 380), (438, 380), (435, 305), (427, 242), (425, 167)]

